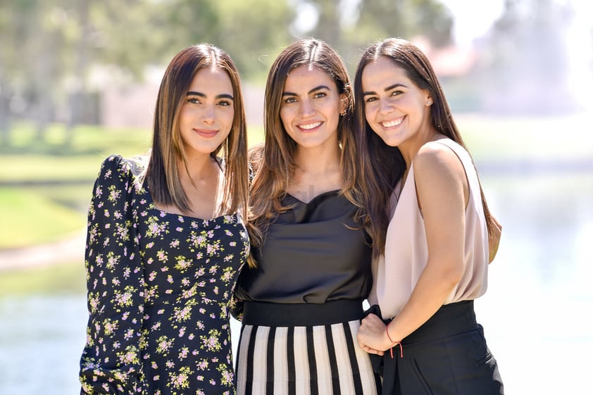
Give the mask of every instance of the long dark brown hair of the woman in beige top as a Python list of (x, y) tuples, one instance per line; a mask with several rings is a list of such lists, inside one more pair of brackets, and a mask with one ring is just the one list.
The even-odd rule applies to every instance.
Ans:
[[(370, 220), (367, 221), (368, 232), (373, 237), (373, 254), (375, 256), (385, 250), (385, 237), (389, 225), (389, 216), (387, 215), (389, 199), (395, 184), (406, 170), (406, 163), (399, 149), (387, 146), (366, 121), (362, 87), (363, 70), (368, 63), (376, 61), (381, 56), (391, 59), (397, 67), (404, 70), (406, 76), (418, 88), (426, 89), (429, 92), (434, 101), (430, 106), (432, 127), (468, 151), (453, 120), (451, 109), (445, 99), (437, 75), (423, 52), (411, 42), (397, 38), (385, 39), (368, 46), (356, 67), (354, 92), (357, 104), (358, 158), (361, 161), (362, 190)], [(482, 195), (488, 233), (492, 234), (494, 222), (490, 216), (481, 185), (480, 194)]]

